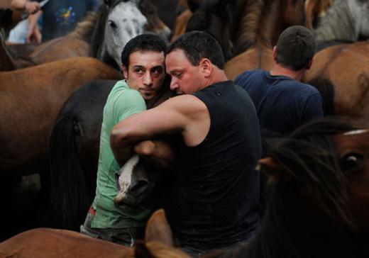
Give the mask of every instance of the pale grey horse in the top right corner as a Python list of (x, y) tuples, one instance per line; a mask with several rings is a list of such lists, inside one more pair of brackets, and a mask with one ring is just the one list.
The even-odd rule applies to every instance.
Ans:
[(335, 0), (314, 33), (318, 42), (369, 38), (369, 0)]

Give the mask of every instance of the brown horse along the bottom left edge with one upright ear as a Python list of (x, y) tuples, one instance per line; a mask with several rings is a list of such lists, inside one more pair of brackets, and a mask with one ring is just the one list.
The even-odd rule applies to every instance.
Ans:
[(180, 250), (168, 248), (167, 246), (172, 245), (172, 242), (172, 234), (165, 219), (165, 213), (163, 210), (159, 210), (148, 221), (145, 241), (138, 242), (134, 249), (87, 237), (73, 231), (38, 228), (23, 232), (0, 243), (0, 257), (189, 258)]

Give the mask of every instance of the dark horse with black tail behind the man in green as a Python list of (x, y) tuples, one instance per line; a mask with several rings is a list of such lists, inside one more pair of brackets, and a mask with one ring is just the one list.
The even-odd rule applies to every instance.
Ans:
[[(45, 225), (78, 230), (94, 198), (99, 136), (106, 99), (116, 81), (94, 81), (70, 96), (49, 139), (50, 210)], [(172, 96), (165, 91), (147, 103), (157, 106)]]

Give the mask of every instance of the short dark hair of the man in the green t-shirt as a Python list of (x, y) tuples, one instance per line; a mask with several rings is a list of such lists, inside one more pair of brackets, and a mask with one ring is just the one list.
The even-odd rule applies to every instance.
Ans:
[(123, 47), (121, 53), (121, 61), (126, 69), (129, 67), (129, 56), (137, 51), (163, 52), (165, 55), (167, 52), (167, 43), (165, 43), (164, 38), (160, 35), (153, 33), (145, 33), (132, 38)]

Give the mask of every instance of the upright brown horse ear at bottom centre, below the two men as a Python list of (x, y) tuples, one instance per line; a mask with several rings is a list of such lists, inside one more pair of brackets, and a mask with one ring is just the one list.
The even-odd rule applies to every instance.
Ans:
[(145, 242), (161, 242), (164, 245), (173, 247), (173, 235), (170, 225), (165, 218), (165, 211), (160, 209), (155, 211), (148, 220), (145, 231)]

